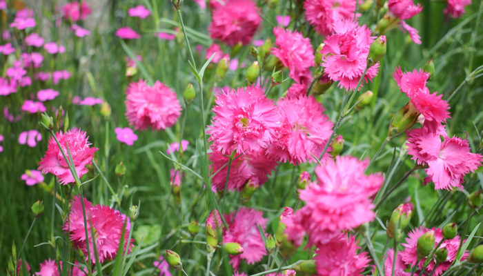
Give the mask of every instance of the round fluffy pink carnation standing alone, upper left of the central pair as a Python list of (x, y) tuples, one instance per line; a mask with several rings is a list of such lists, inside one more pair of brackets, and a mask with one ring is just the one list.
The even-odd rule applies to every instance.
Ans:
[(176, 93), (164, 83), (156, 81), (148, 86), (139, 80), (126, 90), (126, 117), (135, 130), (164, 130), (174, 125), (179, 115), (181, 105)]

